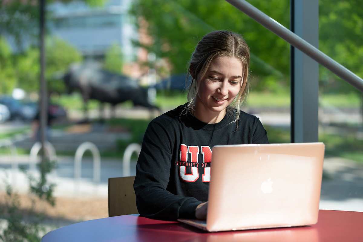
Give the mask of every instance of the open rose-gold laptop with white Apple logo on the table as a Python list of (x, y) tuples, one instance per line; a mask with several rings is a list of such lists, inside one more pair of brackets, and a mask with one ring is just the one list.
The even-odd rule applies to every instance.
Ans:
[(291, 227), (318, 221), (323, 143), (217, 145), (212, 149), (207, 231)]

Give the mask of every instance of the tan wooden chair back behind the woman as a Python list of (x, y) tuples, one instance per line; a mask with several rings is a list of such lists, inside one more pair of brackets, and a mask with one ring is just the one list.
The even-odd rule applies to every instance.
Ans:
[(109, 178), (109, 217), (138, 213), (135, 176)]

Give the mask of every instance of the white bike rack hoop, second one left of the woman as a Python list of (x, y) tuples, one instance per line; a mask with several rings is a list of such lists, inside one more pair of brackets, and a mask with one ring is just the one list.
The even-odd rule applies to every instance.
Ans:
[(79, 183), (81, 181), (82, 157), (86, 150), (90, 150), (93, 156), (93, 182), (95, 185), (99, 184), (101, 180), (101, 156), (97, 146), (91, 142), (83, 142), (77, 148), (76, 155), (74, 156), (74, 181), (75, 192), (79, 191)]

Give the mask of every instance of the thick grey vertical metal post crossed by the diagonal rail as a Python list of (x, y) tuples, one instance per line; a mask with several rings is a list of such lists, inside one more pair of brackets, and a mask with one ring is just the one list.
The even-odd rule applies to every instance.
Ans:
[[(290, 0), (291, 31), (319, 45), (318, 0)], [(319, 65), (291, 46), (291, 142), (318, 141)]]

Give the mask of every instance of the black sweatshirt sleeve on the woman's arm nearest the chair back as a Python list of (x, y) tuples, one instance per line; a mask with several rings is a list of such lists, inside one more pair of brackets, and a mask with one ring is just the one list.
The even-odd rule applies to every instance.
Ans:
[(145, 132), (136, 165), (136, 205), (140, 215), (149, 218), (172, 221), (195, 218), (200, 201), (166, 190), (176, 141), (175, 132), (167, 129), (167, 125), (151, 122)]

